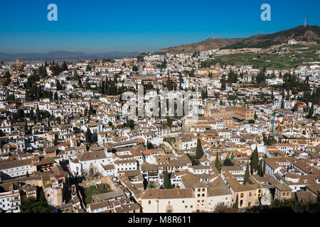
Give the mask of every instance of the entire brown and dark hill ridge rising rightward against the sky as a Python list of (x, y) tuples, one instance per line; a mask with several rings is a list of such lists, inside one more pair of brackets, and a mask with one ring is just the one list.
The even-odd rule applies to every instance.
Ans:
[[(289, 30), (279, 31), (267, 35), (254, 35), (250, 38), (209, 38), (200, 43), (191, 43), (160, 49), (159, 52), (186, 53), (213, 49), (237, 49), (237, 48), (269, 48), (272, 45), (287, 43), (288, 40), (316, 41), (320, 43), (319, 26), (298, 26)], [(157, 52), (157, 53), (159, 53)]]

